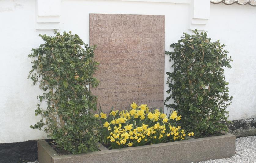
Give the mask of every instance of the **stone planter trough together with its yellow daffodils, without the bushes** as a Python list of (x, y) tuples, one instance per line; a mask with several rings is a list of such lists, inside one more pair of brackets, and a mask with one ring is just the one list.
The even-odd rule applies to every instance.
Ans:
[[(50, 145), (38, 141), (40, 163), (84, 162), (197, 162), (231, 157), (236, 136), (223, 135), (194, 139), (193, 132), (179, 126), (176, 111), (167, 116), (159, 110), (149, 112), (147, 105), (131, 104), (132, 109), (100, 112), (100, 151), (59, 156)], [(106, 148), (107, 146), (108, 148)]]

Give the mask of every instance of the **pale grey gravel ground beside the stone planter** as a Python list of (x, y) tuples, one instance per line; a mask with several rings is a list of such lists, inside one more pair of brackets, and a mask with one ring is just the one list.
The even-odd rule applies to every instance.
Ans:
[[(38, 163), (38, 161), (30, 163)], [(236, 154), (231, 158), (208, 160), (198, 163), (256, 163), (256, 136), (237, 138)]]

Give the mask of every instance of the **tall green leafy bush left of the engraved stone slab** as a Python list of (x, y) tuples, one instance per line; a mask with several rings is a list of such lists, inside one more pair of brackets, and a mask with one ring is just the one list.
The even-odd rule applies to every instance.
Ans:
[(45, 43), (28, 55), (35, 59), (28, 78), (33, 85), (40, 83), (43, 94), (37, 98), (47, 106), (42, 109), (37, 104), (35, 115), (42, 119), (30, 127), (43, 128), (58, 147), (73, 154), (97, 150), (99, 123), (91, 113), (97, 97), (88, 89), (99, 83), (93, 77), (98, 65), (93, 60), (95, 47), (88, 47), (71, 32), (55, 33), (54, 37), (40, 35)]

